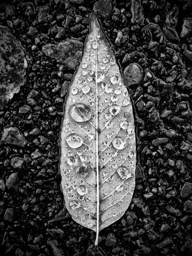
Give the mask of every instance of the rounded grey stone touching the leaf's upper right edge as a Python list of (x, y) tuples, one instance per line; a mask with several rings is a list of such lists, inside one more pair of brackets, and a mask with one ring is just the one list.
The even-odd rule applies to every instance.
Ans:
[(123, 72), (125, 86), (139, 84), (142, 81), (143, 70), (137, 63), (128, 65)]

